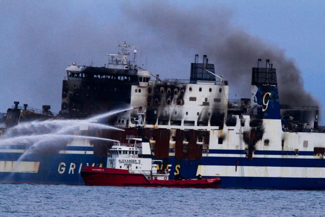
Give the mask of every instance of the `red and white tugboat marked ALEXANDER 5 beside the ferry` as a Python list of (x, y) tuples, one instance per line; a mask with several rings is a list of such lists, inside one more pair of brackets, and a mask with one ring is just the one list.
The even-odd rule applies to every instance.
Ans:
[[(161, 160), (151, 158), (149, 140), (127, 136), (134, 144), (115, 143), (107, 158), (107, 168), (86, 166), (81, 176), (86, 185), (134, 186), (134, 187), (169, 187), (169, 188), (219, 188), (219, 177), (182, 179), (175, 176), (169, 180), (167, 169), (157, 169)], [(140, 146), (138, 146), (140, 144)], [(141, 151), (141, 152), (140, 152)]]

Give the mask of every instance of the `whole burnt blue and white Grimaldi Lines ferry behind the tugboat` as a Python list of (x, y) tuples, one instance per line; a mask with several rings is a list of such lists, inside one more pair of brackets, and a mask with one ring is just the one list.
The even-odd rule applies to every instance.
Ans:
[(50, 151), (32, 151), (23, 160), (28, 145), (1, 147), (2, 182), (83, 184), (82, 169), (108, 167), (112, 154), (112, 142), (93, 138), (125, 143), (129, 136), (140, 136), (149, 141), (150, 158), (161, 161), (157, 169), (168, 170), (169, 179), (201, 174), (220, 176), (221, 188), (325, 189), (325, 132), (318, 126), (318, 108), (281, 105), (269, 60), (262, 66), (258, 59), (252, 68), (250, 98), (230, 100), (228, 81), (206, 55), (201, 63), (195, 55), (189, 80), (160, 79), (137, 66), (131, 46), (124, 43), (120, 49), (107, 54), (104, 67), (68, 66), (58, 115), (49, 107), (37, 115), (16, 103), (3, 119), (12, 127), (36, 118), (83, 120), (136, 108), (97, 120), (124, 131), (81, 125), (74, 135), (91, 139), (72, 138)]

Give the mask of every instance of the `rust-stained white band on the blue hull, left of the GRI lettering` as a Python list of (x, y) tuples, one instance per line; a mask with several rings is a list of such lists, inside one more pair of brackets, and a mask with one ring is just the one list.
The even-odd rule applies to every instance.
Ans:
[(40, 162), (0, 161), (0, 172), (37, 173)]

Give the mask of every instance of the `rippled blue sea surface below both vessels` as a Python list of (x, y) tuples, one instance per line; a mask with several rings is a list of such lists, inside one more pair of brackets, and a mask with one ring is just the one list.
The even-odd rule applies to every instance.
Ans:
[(0, 184), (0, 216), (324, 216), (323, 191)]

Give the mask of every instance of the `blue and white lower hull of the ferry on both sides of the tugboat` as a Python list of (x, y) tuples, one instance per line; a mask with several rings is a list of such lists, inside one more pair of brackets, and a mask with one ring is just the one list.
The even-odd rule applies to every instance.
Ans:
[[(82, 150), (85, 151), (84, 149)], [(8, 149), (8, 152), (0, 153), (1, 183), (84, 184), (80, 174), (85, 166), (106, 166), (106, 157), (77, 153), (34, 153), (28, 154), (19, 161), (21, 153), (13, 153), (14, 150), (18, 149)], [(248, 161), (240, 157), (203, 157), (196, 160), (177, 160), (175, 157), (169, 157), (163, 159), (163, 162), (159, 168), (167, 167), (170, 170), (169, 179), (173, 179), (176, 174), (181, 174), (185, 178), (196, 178), (198, 174), (205, 178), (219, 175), (222, 179), (220, 188), (325, 189), (325, 178), (321, 177), (322, 170), (325, 168), (323, 159), (284, 158), (283, 156), (279, 159), (253, 158)], [(241, 166), (244, 176), (240, 174)], [(259, 168), (259, 171), (256, 171), (256, 168)], [(277, 171), (284, 173), (290, 170), (291, 174), (286, 174), (287, 177), (279, 177), (280, 174), (276, 177)], [(270, 177), (272, 174), (274, 177)]]

